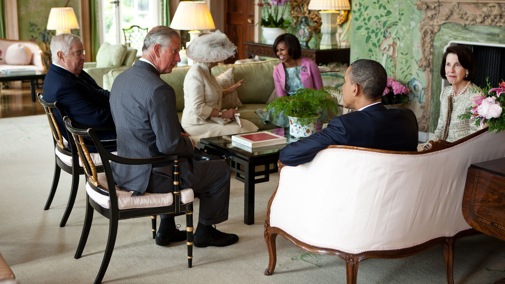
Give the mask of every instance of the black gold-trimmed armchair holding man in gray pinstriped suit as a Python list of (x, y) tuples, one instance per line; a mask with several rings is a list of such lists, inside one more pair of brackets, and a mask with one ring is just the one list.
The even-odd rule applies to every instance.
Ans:
[[(97, 137), (93, 129), (78, 129), (72, 127), (69, 118), (65, 118), (65, 126), (76, 141), (77, 151), (84, 163), (84, 172), (87, 176), (86, 181), (86, 215), (84, 226), (82, 228), (79, 246), (75, 252), (75, 258), (80, 258), (86, 245), (86, 241), (91, 228), (93, 211), (109, 219), (109, 237), (107, 247), (104, 253), (102, 265), (98, 270), (95, 283), (102, 282), (112, 252), (116, 242), (118, 221), (129, 218), (144, 216), (153, 216), (161, 214), (186, 214), (187, 231), (187, 257), (188, 267), (192, 266), (193, 250), (193, 190), (179, 189), (179, 172), (177, 164), (177, 155), (161, 156), (154, 158), (126, 158), (110, 153), (106, 150), (103, 143)], [(103, 161), (104, 173), (98, 173), (93, 160), (90, 158), (86, 145), (86, 137), (90, 137), (94, 146)], [(155, 194), (144, 193), (140, 196), (131, 196), (132, 192), (124, 191), (116, 186), (112, 174), (110, 161), (123, 164), (153, 164), (161, 162), (174, 163), (174, 191), (172, 193)], [(110, 194), (110, 189), (114, 189), (115, 194)]]

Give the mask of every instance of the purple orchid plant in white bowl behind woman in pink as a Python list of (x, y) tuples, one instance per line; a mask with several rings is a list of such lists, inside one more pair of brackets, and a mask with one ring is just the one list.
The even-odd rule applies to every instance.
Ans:
[(289, 27), (289, 20), (284, 19), (284, 13), (290, 0), (261, 0), (258, 6), (261, 8), (261, 25), (266, 28)]

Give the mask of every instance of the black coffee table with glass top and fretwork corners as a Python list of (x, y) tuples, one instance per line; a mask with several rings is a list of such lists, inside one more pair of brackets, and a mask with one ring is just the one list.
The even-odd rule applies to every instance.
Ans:
[[(289, 135), (289, 129), (277, 128), (266, 130), (288, 138), (288, 143), (295, 141)], [(197, 147), (202, 152), (221, 156), (230, 161), (235, 172), (235, 179), (244, 183), (244, 223), (254, 224), (255, 184), (269, 181), (270, 174), (277, 173), (279, 152), (286, 144), (254, 148), (251, 151), (232, 145), (231, 135), (200, 139)], [(263, 165), (257, 169), (257, 166)]]

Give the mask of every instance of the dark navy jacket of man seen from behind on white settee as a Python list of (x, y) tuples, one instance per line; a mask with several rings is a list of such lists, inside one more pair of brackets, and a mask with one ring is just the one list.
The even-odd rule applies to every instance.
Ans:
[(392, 151), (417, 151), (418, 125), (412, 110), (388, 109), (382, 103), (333, 118), (321, 132), (286, 145), (279, 159), (286, 165), (311, 161), (329, 145)]

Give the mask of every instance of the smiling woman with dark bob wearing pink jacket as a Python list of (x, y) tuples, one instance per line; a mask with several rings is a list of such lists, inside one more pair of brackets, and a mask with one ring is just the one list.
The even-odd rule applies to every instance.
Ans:
[(277, 96), (295, 94), (300, 88), (318, 89), (323, 86), (321, 73), (310, 58), (301, 57), (300, 42), (296, 36), (279, 35), (273, 45), (275, 55), (281, 63), (274, 69), (274, 84)]

